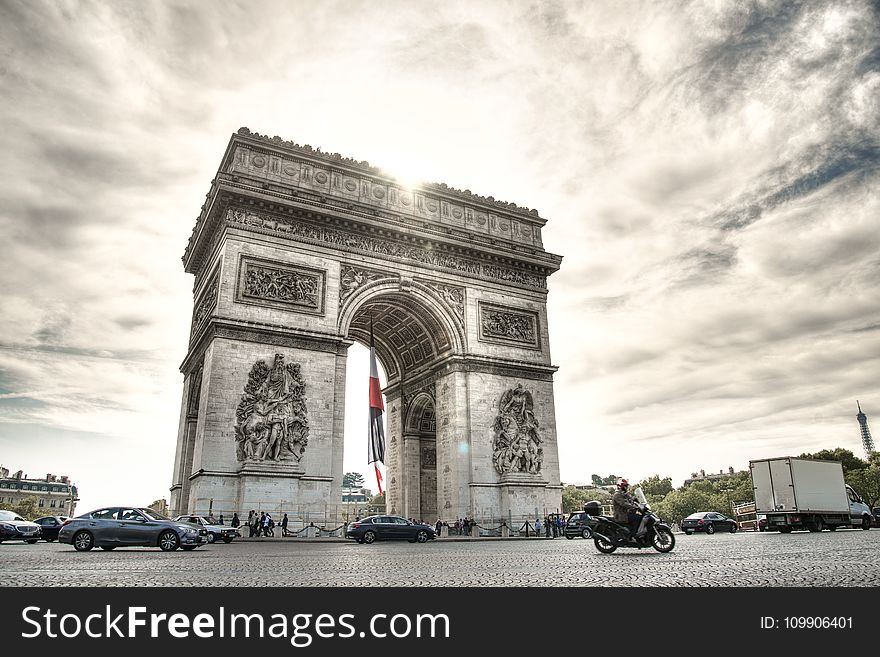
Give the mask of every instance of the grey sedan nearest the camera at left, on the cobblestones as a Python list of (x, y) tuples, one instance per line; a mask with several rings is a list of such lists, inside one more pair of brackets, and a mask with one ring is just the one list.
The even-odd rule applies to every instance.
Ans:
[(177, 548), (194, 550), (205, 542), (207, 534), (202, 527), (171, 520), (152, 509), (118, 506), (66, 521), (58, 533), (58, 541), (73, 545), (78, 552), (87, 552), (96, 546), (103, 550), (158, 546), (173, 551)]

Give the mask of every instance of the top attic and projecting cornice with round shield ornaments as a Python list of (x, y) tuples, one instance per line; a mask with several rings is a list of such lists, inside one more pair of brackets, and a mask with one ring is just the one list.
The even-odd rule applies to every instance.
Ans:
[(321, 154), (330, 159), (308, 159), (318, 153), (280, 138), (233, 135), (187, 244), (183, 256), (186, 271), (196, 273), (203, 265), (224, 190), (270, 203), (318, 209), (329, 216), (347, 216), (377, 227), (424, 233), (438, 242), (541, 261), (550, 273), (559, 269), (562, 258), (544, 250), (540, 227), (546, 221), (536, 215), (513, 212), (507, 204), (494, 201), (481, 205), (482, 197), (473, 195), (449, 196), (443, 193), (445, 186), (409, 189), (387, 177), (367, 177), (367, 173), (381, 175), (372, 167), (369, 171), (347, 171), (340, 167), (353, 166), (354, 161), (341, 156)]

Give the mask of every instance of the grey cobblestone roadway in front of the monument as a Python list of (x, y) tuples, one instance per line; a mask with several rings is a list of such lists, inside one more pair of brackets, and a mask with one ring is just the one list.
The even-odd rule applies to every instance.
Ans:
[(166, 553), (0, 545), (2, 586), (880, 586), (880, 530), (676, 536), (675, 550), (519, 539), (238, 540)]

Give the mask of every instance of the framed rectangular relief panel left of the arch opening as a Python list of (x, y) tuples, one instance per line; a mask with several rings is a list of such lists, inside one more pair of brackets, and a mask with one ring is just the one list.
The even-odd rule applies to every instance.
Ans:
[(318, 269), (242, 256), (235, 300), (320, 314), (324, 280), (325, 273)]

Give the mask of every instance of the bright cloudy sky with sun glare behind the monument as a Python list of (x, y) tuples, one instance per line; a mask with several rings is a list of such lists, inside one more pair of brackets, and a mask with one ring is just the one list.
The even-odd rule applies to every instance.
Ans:
[(876, 2), (0, 0), (0, 463), (168, 497), (180, 258), (241, 126), (540, 211), (564, 482), (861, 454), (878, 37)]

